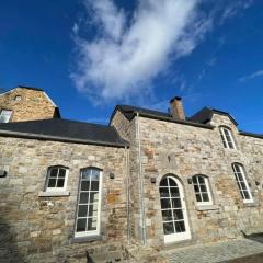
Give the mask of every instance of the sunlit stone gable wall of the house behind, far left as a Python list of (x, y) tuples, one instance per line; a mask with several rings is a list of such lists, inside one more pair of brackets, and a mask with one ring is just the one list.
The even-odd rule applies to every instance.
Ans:
[[(18, 96), (21, 99), (18, 100)], [(16, 88), (0, 95), (0, 111), (11, 110), (10, 122), (53, 118), (56, 106), (43, 91)]]

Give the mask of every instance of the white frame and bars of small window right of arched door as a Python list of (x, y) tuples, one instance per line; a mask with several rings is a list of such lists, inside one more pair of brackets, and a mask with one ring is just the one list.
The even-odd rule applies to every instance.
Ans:
[[(196, 178), (197, 183), (194, 183), (194, 178)], [(204, 179), (204, 182), (205, 182), (204, 184), (199, 183), (199, 178)], [(201, 205), (201, 206), (203, 206), (203, 205), (213, 205), (213, 198), (211, 198), (211, 192), (210, 192), (210, 185), (209, 185), (208, 178), (205, 176), (205, 175), (202, 175), (202, 174), (196, 174), (196, 175), (192, 176), (192, 182), (193, 182), (193, 187), (195, 185), (198, 187), (198, 192), (195, 191), (195, 187), (194, 187), (196, 204)], [(205, 185), (206, 192), (201, 190), (201, 185)], [(197, 201), (196, 194), (199, 194), (202, 201)], [(207, 194), (208, 195), (208, 201), (203, 201), (203, 194)]]

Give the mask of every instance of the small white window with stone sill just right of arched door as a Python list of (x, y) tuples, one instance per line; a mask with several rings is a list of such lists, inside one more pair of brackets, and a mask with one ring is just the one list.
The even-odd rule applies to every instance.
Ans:
[(197, 204), (211, 205), (213, 202), (211, 202), (208, 178), (204, 175), (194, 175), (193, 185), (194, 185)]

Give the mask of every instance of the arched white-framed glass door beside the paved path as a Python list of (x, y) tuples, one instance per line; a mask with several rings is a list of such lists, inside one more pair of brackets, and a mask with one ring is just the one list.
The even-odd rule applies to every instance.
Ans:
[(159, 186), (164, 243), (191, 239), (191, 231), (181, 182), (172, 175), (164, 176)]

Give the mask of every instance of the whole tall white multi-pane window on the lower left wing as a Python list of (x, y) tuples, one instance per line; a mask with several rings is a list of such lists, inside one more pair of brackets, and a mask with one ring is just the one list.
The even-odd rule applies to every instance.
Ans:
[(76, 237), (100, 233), (101, 174), (95, 168), (81, 172), (77, 207)]

